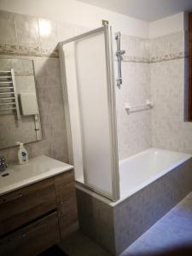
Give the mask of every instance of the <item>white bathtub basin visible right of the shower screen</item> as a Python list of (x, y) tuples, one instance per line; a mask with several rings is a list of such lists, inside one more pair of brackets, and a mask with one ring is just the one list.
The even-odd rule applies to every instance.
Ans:
[(149, 148), (125, 160), (120, 160), (120, 201), (143, 189), (191, 157), (191, 154)]

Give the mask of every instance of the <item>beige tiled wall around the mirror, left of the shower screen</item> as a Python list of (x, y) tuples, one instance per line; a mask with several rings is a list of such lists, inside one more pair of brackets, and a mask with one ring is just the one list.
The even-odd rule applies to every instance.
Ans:
[[(46, 154), (68, 161), (67, 135), (61, 91), (57, 43), (87, 28), (53, 20), (0, 11), (0, 58), (34, 61), (43, 139), (26, 144), (29, 157)], [(9, 163), (17, 160), (18, 148), (0, 150)]]

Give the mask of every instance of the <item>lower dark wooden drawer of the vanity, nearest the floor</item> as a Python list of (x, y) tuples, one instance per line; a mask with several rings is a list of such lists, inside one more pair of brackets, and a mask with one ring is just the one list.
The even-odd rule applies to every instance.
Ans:
[(60, 241), (57, 212), (0, 240), (1, 256), (33, 256)]

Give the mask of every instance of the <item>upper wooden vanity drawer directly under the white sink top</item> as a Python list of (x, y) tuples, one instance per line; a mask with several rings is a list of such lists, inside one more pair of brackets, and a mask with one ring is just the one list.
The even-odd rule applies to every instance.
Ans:
[(55, 184), (49, 178), (0, 196), (0, 236), (55, 210)]

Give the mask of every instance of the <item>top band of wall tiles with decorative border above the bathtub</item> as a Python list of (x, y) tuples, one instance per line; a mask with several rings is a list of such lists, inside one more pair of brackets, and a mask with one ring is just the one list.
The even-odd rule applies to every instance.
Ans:
[(186, 58), (188, 57), (188, 53), (185, 52), (187, 38), (188, 32), (176, 32), (152, 39), (122, 35), (122, 49), (126, 51), (123, 61), (154, 63)]

